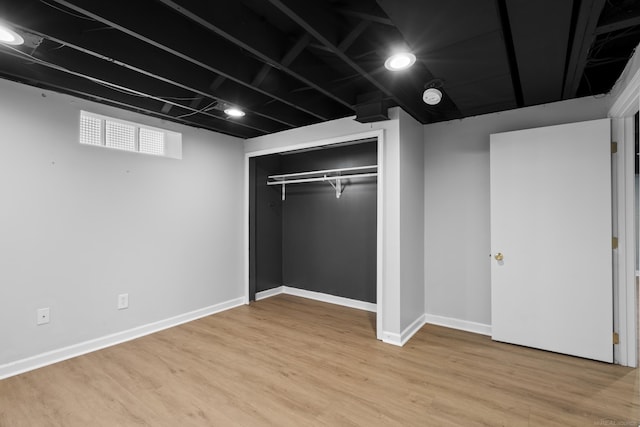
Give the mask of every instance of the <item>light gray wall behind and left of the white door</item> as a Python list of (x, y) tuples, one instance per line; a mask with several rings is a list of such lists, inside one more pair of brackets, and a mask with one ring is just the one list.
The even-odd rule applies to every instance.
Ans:
[(428, 315), (491, 323), (489, 135), (604, 118), (609, 105), (588, 97), (424, 127)]

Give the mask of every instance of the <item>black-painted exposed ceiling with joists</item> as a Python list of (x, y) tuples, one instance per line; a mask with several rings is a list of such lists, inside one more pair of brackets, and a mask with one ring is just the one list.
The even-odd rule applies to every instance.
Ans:
[[(637, 0), (0, 0), (0, 20), (26, 41), (0, 77), (243, 138), (602, 94), (640, 42)], [(417, 62), (388, 71), (399, 48)]]

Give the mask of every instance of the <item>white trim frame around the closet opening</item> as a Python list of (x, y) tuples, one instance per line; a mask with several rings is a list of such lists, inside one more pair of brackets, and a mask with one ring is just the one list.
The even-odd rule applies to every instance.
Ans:
[(304, 142), (295, 145), (275, 147), (266, 150), (245, 153), (244, 156), (244, 281), (245, 294), (244, 303), (249, 304), (249, 159), (252, 157), (266, 156), (269, 154), (285, 153), (288, 151), (302, 150), (312, 147), (340, 144), (344, 142), (357, 141), (361, 139), (377, 138), (378, 141), (378, 185), (376, 201), (376, 337), (382, 340), (382, 322), (384, 314), (384, 275), (383, 275), (383, 211), (384, 211), (384, 130), (375, 130), (351, 135), (344, 135), (335, 138), (321, 139), (317, 141)]

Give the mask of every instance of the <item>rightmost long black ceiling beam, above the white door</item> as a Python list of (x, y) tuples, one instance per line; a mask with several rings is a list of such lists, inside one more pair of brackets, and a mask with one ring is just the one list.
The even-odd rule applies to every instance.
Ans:
[(598, 19), (607, 0), (583, 0), (580, 4), (576, 19), (573, 43), (567, 62), (562, 98), (570, 99), (578, 93), (582, 81), (589, 50), (595, 40)]

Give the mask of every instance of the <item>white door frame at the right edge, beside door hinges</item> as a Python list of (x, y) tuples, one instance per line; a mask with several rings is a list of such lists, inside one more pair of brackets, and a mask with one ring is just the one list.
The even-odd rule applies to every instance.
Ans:
[(619, 345), (614, 346), (614, 362), (634, 368), (638, 366), (634, 115), (639, 109), (640, 69), (609, 110), (612, 141), (618, 143), (618, 152), (612, 157), (613, 233), (618, 237), (618, 249), (613, 251), (614, 330), (620, 337)]

